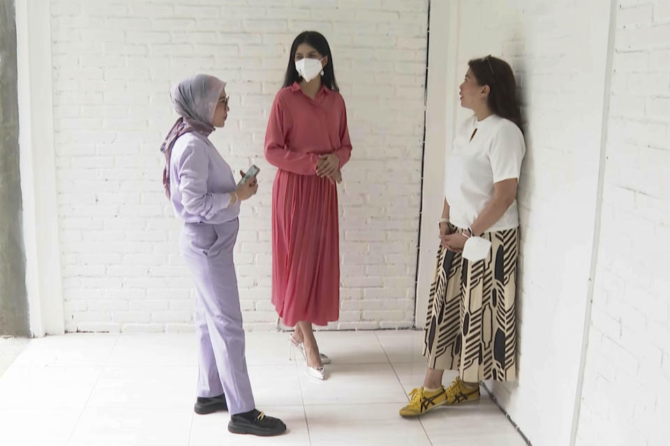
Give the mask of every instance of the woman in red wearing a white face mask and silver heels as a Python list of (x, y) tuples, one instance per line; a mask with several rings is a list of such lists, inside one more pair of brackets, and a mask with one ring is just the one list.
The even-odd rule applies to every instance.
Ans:
[(324, 378), (312, 324), (339, 317), (339, 233), (336, 183), (351, 155), (344, 100), (332, 54), (320, 33), (293, 41), (283, 88), (267, 123), (265, 157), (278, 171), (272, 187), (272, 303), (307, 374)]

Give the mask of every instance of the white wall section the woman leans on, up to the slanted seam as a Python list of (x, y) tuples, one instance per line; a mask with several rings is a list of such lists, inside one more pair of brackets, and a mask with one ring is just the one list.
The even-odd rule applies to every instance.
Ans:
[[(460, 5), (459, 76), (452, 88), (469, 59), (500, 56), (515, 72), (528, 123), (518, 197), (519, 380), (491, 387), (533, 445), (565, 446), (593, 252), (609, 1)], [(459, 107), (456, 121), (470, 113)]]

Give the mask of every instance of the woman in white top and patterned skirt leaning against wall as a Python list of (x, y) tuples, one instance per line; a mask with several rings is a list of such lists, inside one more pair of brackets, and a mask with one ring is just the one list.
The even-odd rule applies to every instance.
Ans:
[[(526, 144), (512, 68), (492, 56), (468, 66), (461, 106), (474, 114), (446, 160), (442, 241), (424, 339), (428, 370), (400, 410), (404, 417), (475, 401), (479, 380), (516, 379), (516, 186)], [(445, 369), (459, 371), (446, 389)]]

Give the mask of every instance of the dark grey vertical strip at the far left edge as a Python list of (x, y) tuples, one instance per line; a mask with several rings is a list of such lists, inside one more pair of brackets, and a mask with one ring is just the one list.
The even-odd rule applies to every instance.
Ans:
[(0, 335), (27, 337), (14, 2), (0, 1)]

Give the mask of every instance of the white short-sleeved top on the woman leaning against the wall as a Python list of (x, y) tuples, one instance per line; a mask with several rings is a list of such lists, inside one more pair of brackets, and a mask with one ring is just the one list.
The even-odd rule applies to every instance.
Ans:
[[(477, 129), (470, 141), (472, 132)], [(519, 178), (526, 153), (521, 130), (512, 121), (492, 114), (477, 121), (466, 120), (456, 133), (454, 146), (445, 160), (445, 199), (449, 220), (466, 229), (493, 198), (493, 183)], [(500, 220), (486, 231), (502, 231), (519, 226), (516, 200)]]

